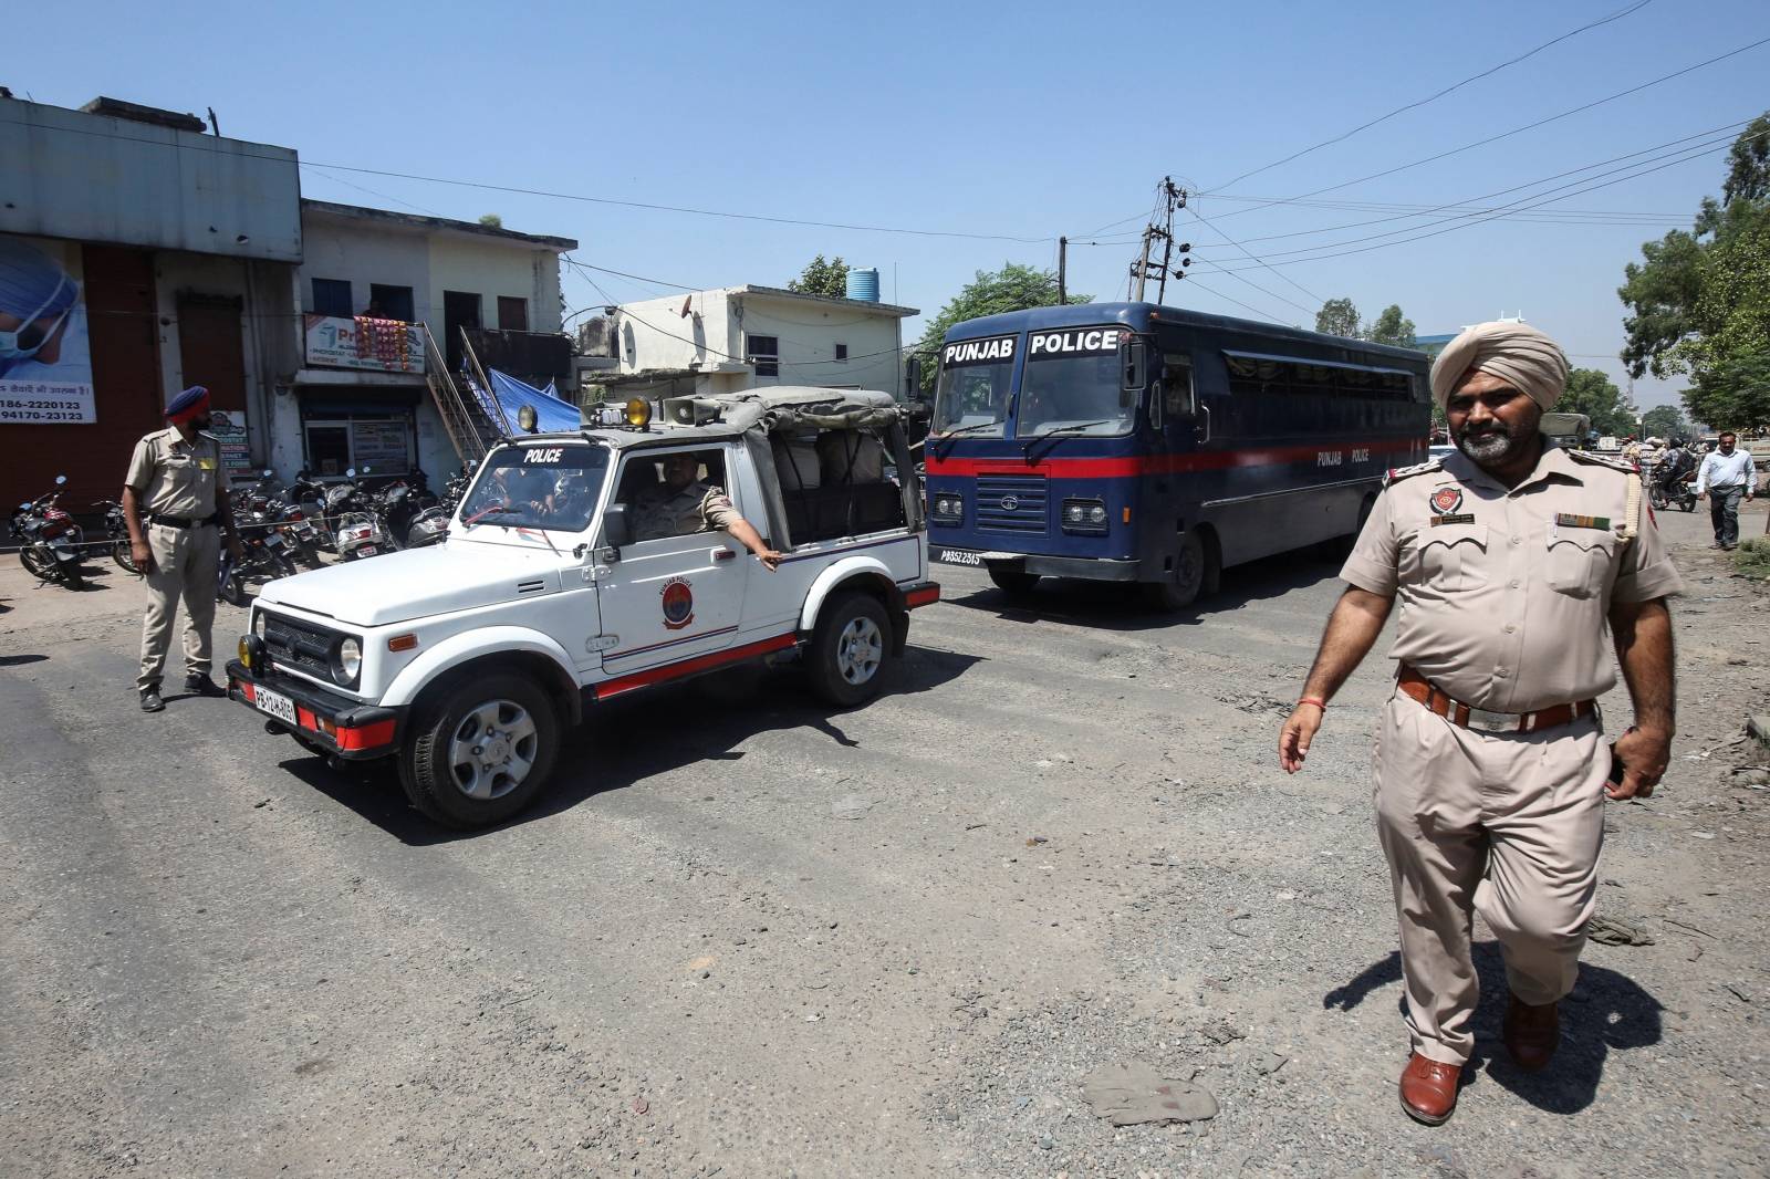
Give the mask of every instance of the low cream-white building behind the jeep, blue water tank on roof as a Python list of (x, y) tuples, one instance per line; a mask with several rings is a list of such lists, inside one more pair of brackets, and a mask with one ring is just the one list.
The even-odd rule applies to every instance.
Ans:
[(919, 313), (754, 285), (623, 303), (579, 329), (579, 377), (621, 397), (768, 384), (903, 397), (903, 320)]

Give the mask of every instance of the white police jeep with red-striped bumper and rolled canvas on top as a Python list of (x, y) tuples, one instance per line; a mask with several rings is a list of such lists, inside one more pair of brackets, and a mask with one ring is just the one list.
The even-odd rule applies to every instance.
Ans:
[[(396, 758), (412, 804), (451, 827), (527, 805), (566, 728), (614, 696), (800, 659), (820, 696), (858, 705), (940, 597), (906, 412), (773, 388), (506, 441), (442, 543), (269, 582), (228, 694), (322, 756)], [(726, 531), (635, 533), (671, 455), (726, 490), (777, 570)]]

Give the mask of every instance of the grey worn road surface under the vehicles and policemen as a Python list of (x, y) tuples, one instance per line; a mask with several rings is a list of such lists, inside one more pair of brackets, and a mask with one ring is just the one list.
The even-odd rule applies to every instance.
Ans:
[[(1697, 752), (1763, 701), (1770, 651), (1765, 595), (1680, 552)], [(136, 588), (9, 565), (0, 1172), (1758, 1172), (1745, 747), (1616, 809), (1600, 912), (1655, 944), (1591, 949), (1558, 1073), (1483, 1066), (1425, 1131), (1395, 1108), (1368, 816), (1386, 666), (1303, 777), (1273, 765), (1333, 565), (1235, 572), (1179, 620), (943, 581), (869, 708), (828, 715), (786, 673), (623, 699), (543, 805), (462, 837), (237, 705), (140, 715)], [(223, 607), (218, 636), (239, 627)], [(1113, 1060), (1198, 1069), (1223, 1112), (1113, 1129), (1078, 1083)]]

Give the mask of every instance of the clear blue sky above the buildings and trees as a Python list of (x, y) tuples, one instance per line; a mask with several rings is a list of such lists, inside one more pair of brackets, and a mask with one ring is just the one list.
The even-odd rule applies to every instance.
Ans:
[[(1041, 239), (766, 225), (303, 168), (310, 196), (455, 218), (499, 212), (510, 228), (579, 239), (586, 262), (673, 283), (784, 283), (814, 253), (839, 253), (880, 267), (887, 299), (935, 312), (977, 269), (1053, 266), (1050, 239), (1085, 239), (1131, 218), (1104, 234), (1119, 244), (1071, 250), (1071, 289), (1115, 297), (1135, 257), (1126, 239), (1165, 173), (1204, 193), (1198, 212), (1235, 239), (1393, 216), (1251, 207), (1221, 193), (1296, 196), (1770, 37), (1761, 0), (1651, 0), (1343, 143), (1227, 186), (1632, 2), (901, 4), (855, 16), (828, 4), (143, 9), (96, 0), (14, 9), (9, 42), (41, 51), (9, 53), (0, 83), (65, 106), (96, 94), (196, 113), (212, 106), (223, 133), (294, 147), (313, 165)], [(1766, 71), (1770, 46), (1761, 46), (1320, 200), (1441, 205), (1639, 152), (1761, 113), (1770, 106)], [(1719, 189), (1722, 168), (1722, 156), (1710, 154), (1547, 205), (1637, 212), (1646, 225), (1499, 220), (1340, 258), (1273, 257), (1405, 227), (1444, 228), (1428, 225), (1448, 216), (1441, 212), (1248, 243), (1278, 273), (1188, 221), (1182, 237), (1195, 246), (1198, 281), (1170, 285), (1168, 303), (1248, 315), (1228, 301), (1237, 299), (1262, 319), (1312, 324), (1320, 297), (1351, 296), (1366, 315), (1400, 303), (1421, 333), (1522, 310), (1575, 363), (1621, 379), (1621, 269), (1643, 241), (1689, 225), (1697, 200)], [(1244, 266), (1255, 269), (1214, 273)], [(616, 301), (669, 290), (600, 281)], [(568, 273), (566, 301), (605, 299)], [(1671, 400), (1676, 388), (1643, 381), (1637, 400)]]

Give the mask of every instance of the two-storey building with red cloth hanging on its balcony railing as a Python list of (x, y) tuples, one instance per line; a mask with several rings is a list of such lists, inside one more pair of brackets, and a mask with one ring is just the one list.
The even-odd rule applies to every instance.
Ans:
[[(460, 366), (466, 328), (476, 352), (489, 351), (489, 338), (552, 338), (550, 372), (531, 365), (515, 375), (566, 375), (559, 255), (575, 241), (324, 200), (301, 202), (301, 366), (280, 389), (287, 405), (278, 407), (271, 462), (280, 471), (407, 474), (416, 466), (437, 483), (460, 467), (425, 386), (427, 343), (416, 326), (428, 326), (450, 372)], [(363, 326), (359, 315), (414, 328)], [(375, 338), (359, 338), (368, 335)]]

